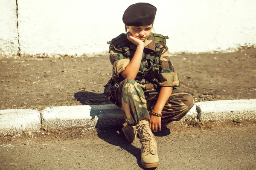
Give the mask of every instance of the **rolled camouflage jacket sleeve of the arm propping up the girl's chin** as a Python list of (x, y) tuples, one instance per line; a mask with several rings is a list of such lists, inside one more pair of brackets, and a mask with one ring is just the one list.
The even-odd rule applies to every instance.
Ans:
[(115, 48), (113, 44), (109, 46), (109, 59), (113, 65), (112, 79), (118, 79), (122, 71), (129, 64), (130, 59), (123, 55), (122, 49)]

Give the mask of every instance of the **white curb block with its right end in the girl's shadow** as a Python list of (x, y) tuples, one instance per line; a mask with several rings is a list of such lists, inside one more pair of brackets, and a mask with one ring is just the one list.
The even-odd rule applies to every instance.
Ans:
[(42, 124), (49, 130), (64, 130), (74, 127), (106, 127), (115, 125), (122, 118), (115, 105), (82, 105), (46, 108)]

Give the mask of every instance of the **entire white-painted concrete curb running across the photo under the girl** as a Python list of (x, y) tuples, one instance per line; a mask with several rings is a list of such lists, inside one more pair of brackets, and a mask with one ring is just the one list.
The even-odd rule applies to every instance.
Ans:
[[(220, 100), (195, 103), (180, 122), (224, 122), (256, 119), (256, 99)], [(80, 105), (31, 109), (0, 110), (0, 133), (15, 134), (43, 129), (65, 130), (74, 127), (108, 127), (124, 122), (116, 105)]]

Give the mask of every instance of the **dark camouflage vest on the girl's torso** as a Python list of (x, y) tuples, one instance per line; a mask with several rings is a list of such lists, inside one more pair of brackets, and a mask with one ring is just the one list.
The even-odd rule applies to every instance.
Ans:
[[(163, 36), (161, 34), (151, 34), (154, 36), (155, 51), (144, 48), (140, 69), (135, 79), (142, 83), (152, 83), (155, 84), (155, 86), (158, 86), (159, 57), (160, 53), (163, 51), (163, 48), (166, 45), (166, 39), (169, 37)], [(108, 42), (108, 44), (112, 43), (116, 48), (122, 48), (124, 57), (131, 59), (134, 56), (137, 46), (128, 45), (125, 35), (126, 34), (120, 34)]]

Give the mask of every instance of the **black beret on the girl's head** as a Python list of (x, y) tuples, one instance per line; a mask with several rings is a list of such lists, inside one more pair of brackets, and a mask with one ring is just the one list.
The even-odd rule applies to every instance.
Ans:
[(149, 3), (135, 3), (123, 14), (123, 22), (127, 26), (148, 26), (154, 22), (157, 8)]

